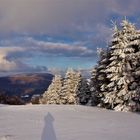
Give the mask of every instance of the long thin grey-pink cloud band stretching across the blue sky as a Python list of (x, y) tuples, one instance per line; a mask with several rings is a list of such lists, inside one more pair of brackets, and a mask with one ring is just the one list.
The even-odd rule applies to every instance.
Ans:
[[(21, 40), (21, 38), (20, 38)], [(64, 43), (64, 42), (50, 42), (40, 41), (32, 37), (23, 37), (21, 45), (14, 40), (2, 41), (0, 43), (1, 50), (5, 50), (9, 59), (29, 58), (34, 53), (43, 53), (46, 55), (58, 55), (66, 57), (90, 57), (94, 55), (94, 51), (82, 45), (80, 42)], [(23, 58), (22, 58), (23, 59)]]

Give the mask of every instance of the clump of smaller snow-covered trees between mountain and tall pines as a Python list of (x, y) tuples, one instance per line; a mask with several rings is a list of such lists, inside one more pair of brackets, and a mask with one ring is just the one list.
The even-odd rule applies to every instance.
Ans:
[(80, 72), (68, 69), (65, 78), (55, 75), (40, 99), (42, 104), (91, 104), (90, 87)]

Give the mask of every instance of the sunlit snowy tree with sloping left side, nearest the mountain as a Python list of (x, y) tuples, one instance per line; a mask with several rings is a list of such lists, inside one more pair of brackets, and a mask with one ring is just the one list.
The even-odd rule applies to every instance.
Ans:
[(62, 79), (60, 75), (55, 75), (48, 90), (44, 92), (40, 99), (42, 104), (60, 104), (60, 94), (62, 90)]

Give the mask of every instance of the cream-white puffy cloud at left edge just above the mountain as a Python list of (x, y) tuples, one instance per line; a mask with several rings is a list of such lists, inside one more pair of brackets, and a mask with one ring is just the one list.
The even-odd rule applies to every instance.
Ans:
[[(45, 67), (32, 67), (23, 62), (23, 58), (16, 57), (18, 53), (24, 54), (26, 52), (25, 48), (21, 47), (0, 47), (0, 73), (1, 72), (33, 72), (33, 71), (43, 71), (47, 70)], [(9, 57), (10, 56), (10, 57)], [(26, 57), (26, 55), (25, 55)]]

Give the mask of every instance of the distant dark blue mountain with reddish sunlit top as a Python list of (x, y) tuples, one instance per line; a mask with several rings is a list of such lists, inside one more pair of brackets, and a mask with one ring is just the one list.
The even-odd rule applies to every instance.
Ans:
[(0, 77), (0, 93), (30, 100), (33, 95), (41, 95), (53, 78), (48, 73), (18, 74)]

